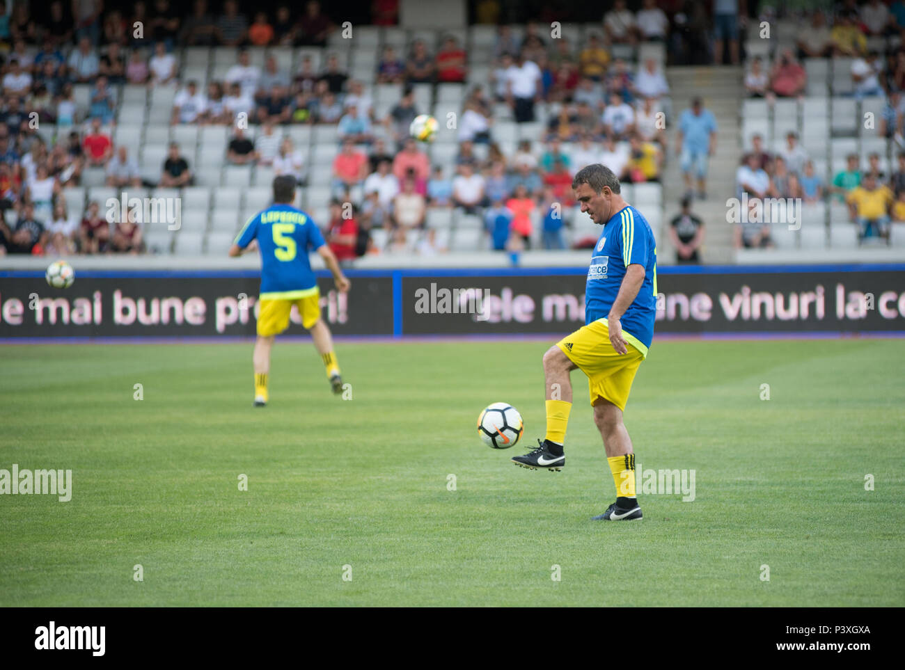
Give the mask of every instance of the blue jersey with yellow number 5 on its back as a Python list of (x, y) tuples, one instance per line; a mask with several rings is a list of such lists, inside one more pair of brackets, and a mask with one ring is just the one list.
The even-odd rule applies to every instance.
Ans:
[(307, 213), (291, 204), (273, 204), (245, 223), (235, 243), (244, 249), (252, 240), (261, 250), (260, 297), (305, 297), (318, 285), (308, 252), (325, 242)]

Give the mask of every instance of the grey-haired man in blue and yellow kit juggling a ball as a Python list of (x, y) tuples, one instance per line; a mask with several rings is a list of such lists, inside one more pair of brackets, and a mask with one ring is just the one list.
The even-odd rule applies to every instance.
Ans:
[(572, 181), (581, 211), (604, 231), (587, 270), (585, 324), (544, 354), (547, 435), (538, 448), (512, 460), (531, 469), (566, 465), (563, 442), (572, 409), (570, 373), (587, 375), (594, 422), (604, 439), (616, 501), (597, 521), (642, 518), (635, 496), (632, 439), (623, 410), (638, 366), (653, 338), (657, 304), (657, 250), (651, 226), (619, 194), (619, 179), (604, 165), (587, 165)]

